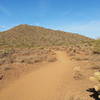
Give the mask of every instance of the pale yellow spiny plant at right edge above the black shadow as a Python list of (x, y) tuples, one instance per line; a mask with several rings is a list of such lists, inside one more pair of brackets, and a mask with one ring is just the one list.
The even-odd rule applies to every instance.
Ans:
[[(96, 83), (94, 88), (97, 92), (100, 92), (100, 72), (95, 72), (94, 76), (90, 77), (90, 80)], [(100, 98), (100, 95), (99, 95), (99, 98)]]

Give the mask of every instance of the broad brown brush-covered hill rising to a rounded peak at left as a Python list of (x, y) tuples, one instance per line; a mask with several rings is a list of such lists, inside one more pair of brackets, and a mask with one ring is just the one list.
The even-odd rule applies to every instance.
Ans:
[(86, 43), (90, 38), (63, 31), (55, 31), (22, 24), (0, 32), (0, 45), (14, 47), (66, 46)]

